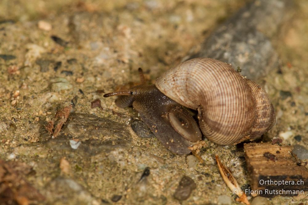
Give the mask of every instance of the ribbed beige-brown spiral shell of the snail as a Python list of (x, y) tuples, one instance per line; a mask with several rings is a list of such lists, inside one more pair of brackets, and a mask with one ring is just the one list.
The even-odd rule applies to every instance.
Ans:
[(177, 103), (198, 110), (202, 133), (217, 144), (257, 138), (275, 121), (264, 89), (215, 59), (185, 61), (165, 72), (155, 85)]

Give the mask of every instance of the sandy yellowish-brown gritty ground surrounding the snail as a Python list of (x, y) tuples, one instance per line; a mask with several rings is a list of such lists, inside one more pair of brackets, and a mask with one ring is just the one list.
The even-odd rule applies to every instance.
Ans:
[[(138, 67), (153, 83), (197, 52), (245, 1), (52, 2), (0, 2), (0, 156), (34, 169), (25, 177), (45, 196), (41, 203), (104, 204), (117, 201), (116, 195), (122, 196), (119, 204), (236, 203), (214, 154), (245, 187), (249, 181), (241, 146), (209, 143), (200, 153), (204, 164), (172, 154), (155, 137), (136, 136), (128, 123), (138, 114), (117, 108), (114, 98), (103, 98), (97, 90), (111, 92), (139, 82)], [(308, 3), (295, 4), (294, 16), (270, 39), (280, 66), (262, 81), (277, 124), (264, 139), (281, 136), (285, 144), (307, 148)], [(95, 99), (102, 109), (91, 108)], [(46, 122), (71, 101), (73, 112), (51, 139)], [(72, 139), (81, 142), (77, 149)], [(140, 180), (147, 167), (150, 175)], [(173, 195), (184, 175), (197, 188), (179, 202)], [(305, 198), (307, 193), (271, 201), (299, 204)]]

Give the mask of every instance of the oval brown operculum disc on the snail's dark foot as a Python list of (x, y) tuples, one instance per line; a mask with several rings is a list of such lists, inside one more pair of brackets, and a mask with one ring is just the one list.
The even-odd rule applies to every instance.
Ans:
[(168, 120), (173, 129), (182, 137), (190, 142), (197, 142), (202, 139), (201, 131), (189, 114), (189, 112), (181, 106), (172, 106), (168, 112)]

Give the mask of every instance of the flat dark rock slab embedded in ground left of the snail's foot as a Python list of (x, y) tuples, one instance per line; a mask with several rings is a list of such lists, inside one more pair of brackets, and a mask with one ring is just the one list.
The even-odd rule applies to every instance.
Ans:
[[(128, 150), (132, 146), (130, 134), (124, 125), (90, 114), (71, 113), (55, 139), (51, 139), (45, 125), (42, 122), (39, 129), (40, 141), (47, 149), (55, 151), (76, 151), (83, 156), (94, 156), (102, 152), (109, 153), (116, 148)], [(70, 145), (72, 138), (81, 142), (76, 150)]]

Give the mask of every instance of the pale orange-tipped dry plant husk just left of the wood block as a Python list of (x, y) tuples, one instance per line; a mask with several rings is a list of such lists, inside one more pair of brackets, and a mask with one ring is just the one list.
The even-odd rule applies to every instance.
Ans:
[(215, 155), (216, 162), (220, 171), (220, 174), (222, 176), (222, 179), (224, 179), (225, 183), (229, 187), (229, 189), (233, 192), (233, 194), (236, 194), (239, 199), (236, 199), (236, 201), (245, 203), (249, 205), (249, 201), (247, 199), (246, 194), (242, 191), (241, 187), (238, 185), (237, 180), (233, 177), (231, 171), (226, 168), (218, 158), (218, 155)]

